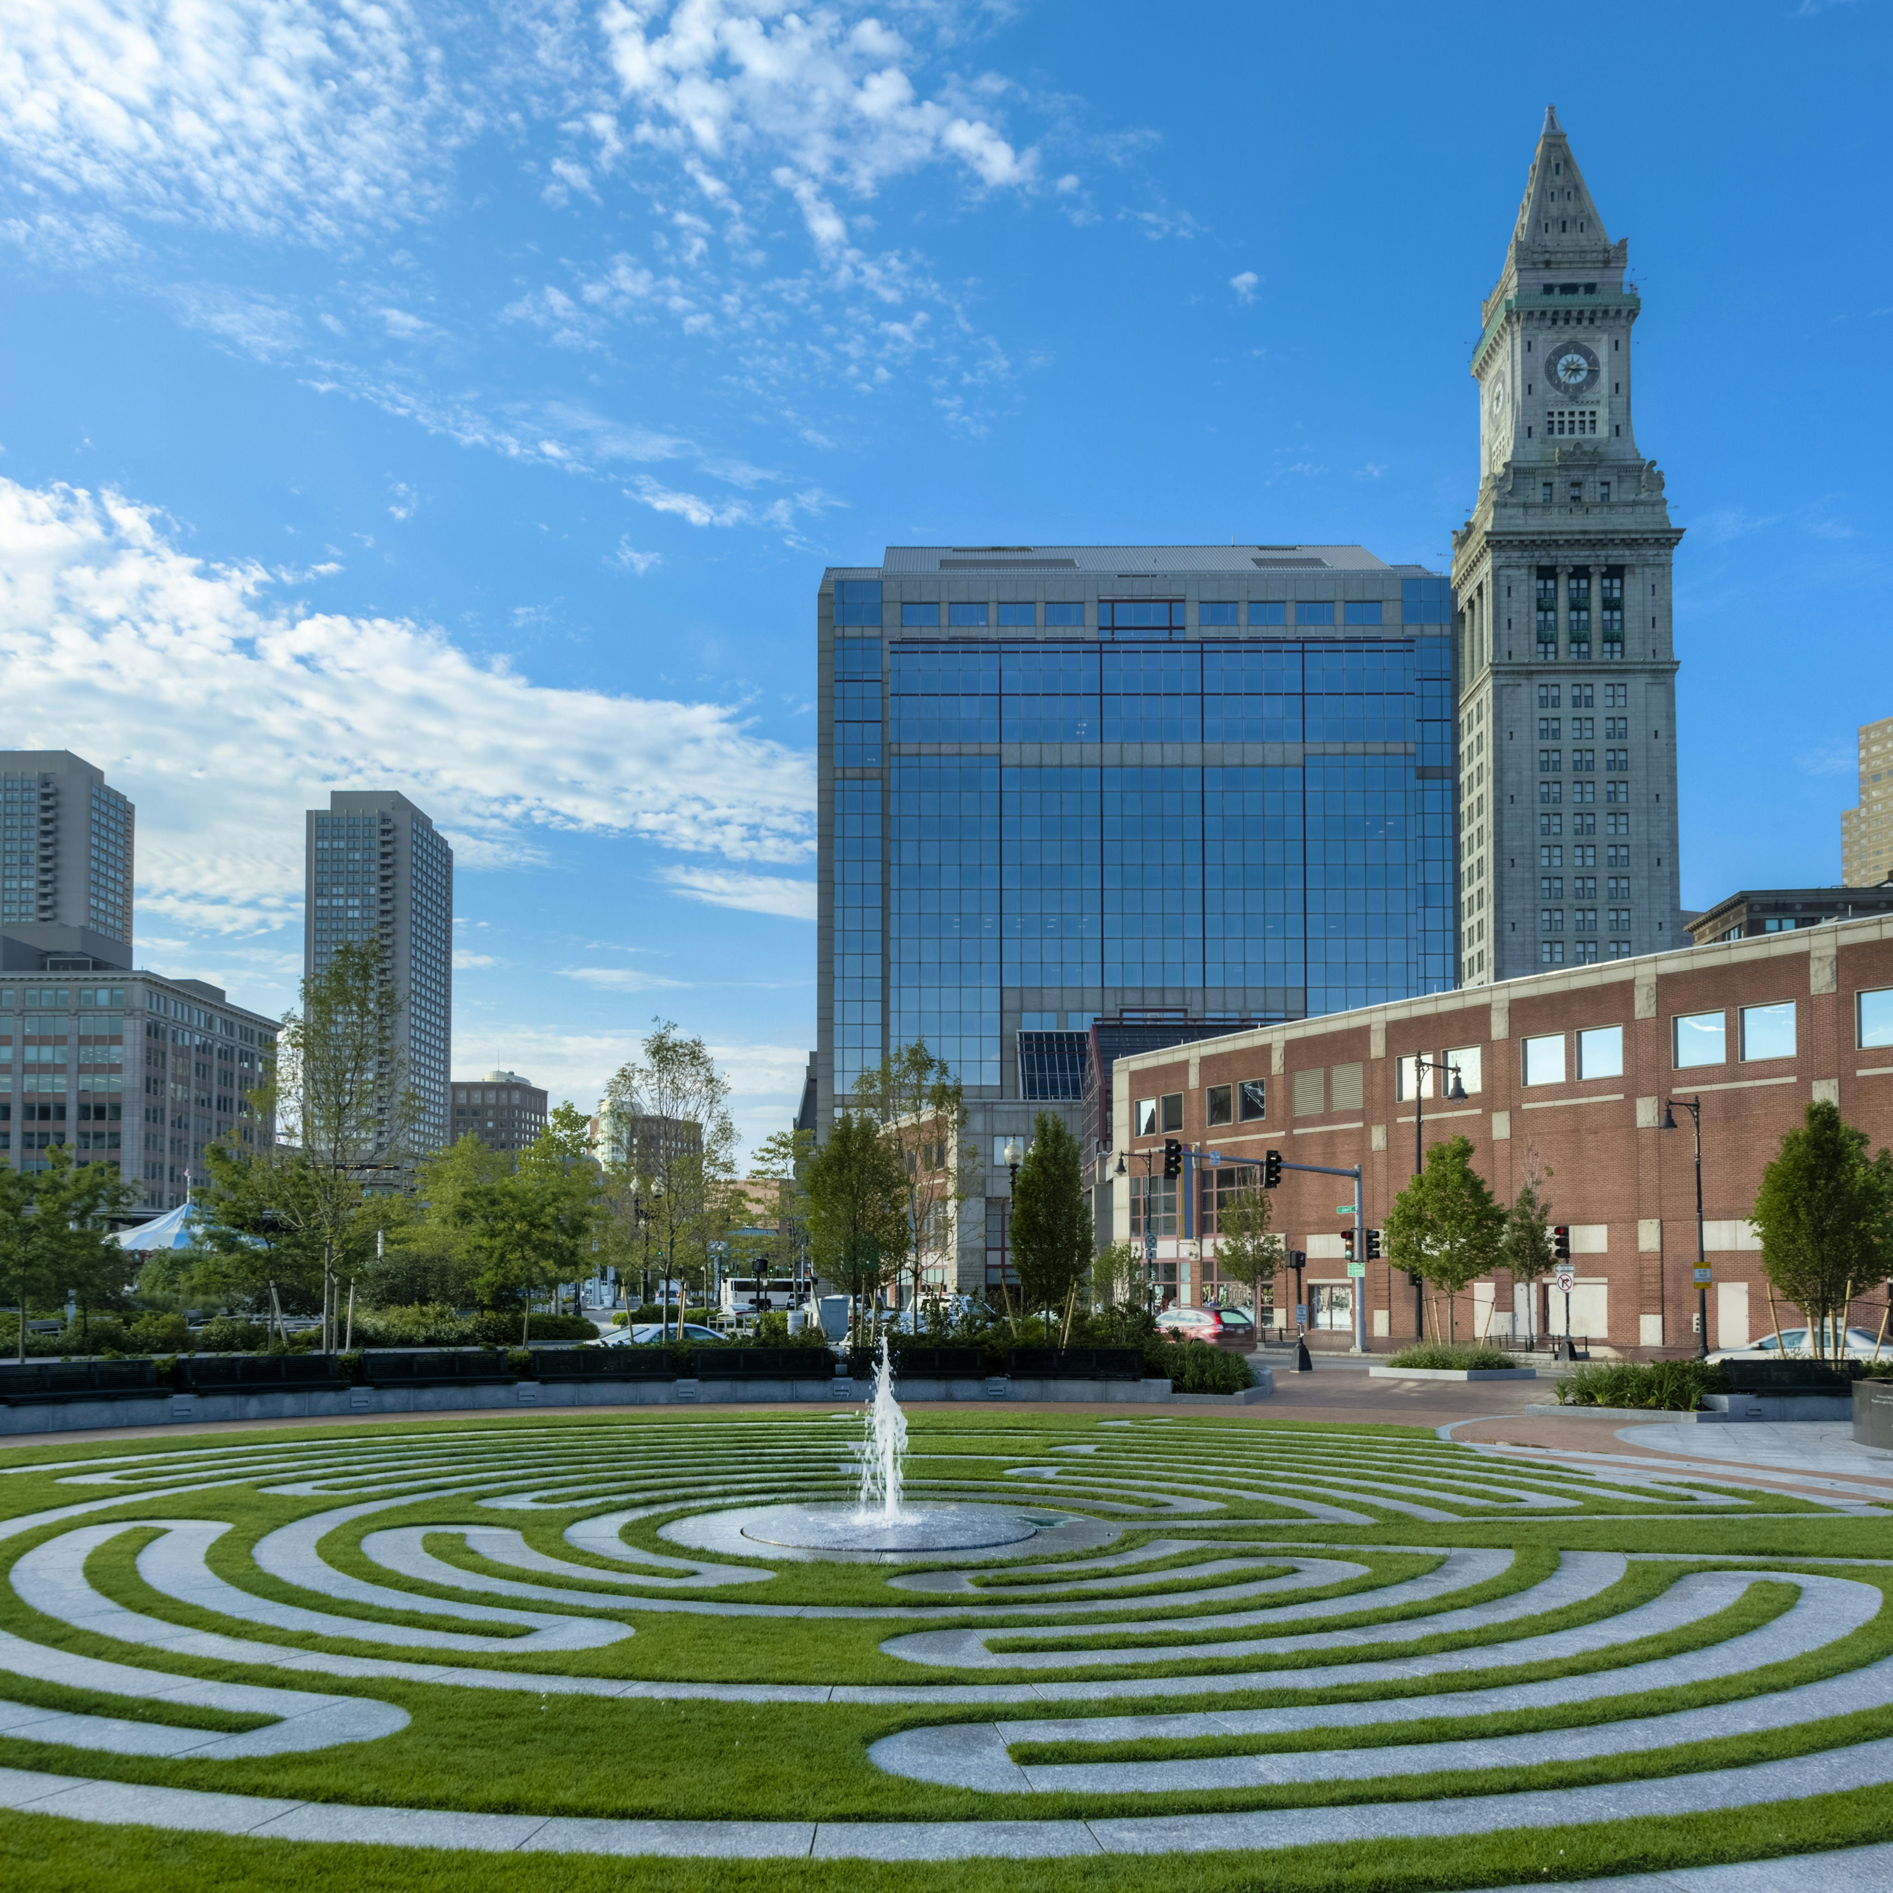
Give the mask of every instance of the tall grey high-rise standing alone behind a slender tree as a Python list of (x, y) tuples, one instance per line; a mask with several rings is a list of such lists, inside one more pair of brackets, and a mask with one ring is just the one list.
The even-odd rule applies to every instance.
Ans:
[(305, 818), (303, 967), (345, 941), (373, 941), (401, 1000), (399, 1035), (420, 1098), (422, 1151), (451, 1138), (454, 852), (394, 789), (335, 789)]

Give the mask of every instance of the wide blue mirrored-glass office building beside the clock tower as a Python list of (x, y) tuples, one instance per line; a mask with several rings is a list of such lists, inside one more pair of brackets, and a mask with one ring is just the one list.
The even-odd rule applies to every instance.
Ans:
[[(820, 1121), (924, 1039), (998, 1200), (1009, 1134), (1047, 1102), (1077, 1128), (1100, 1015), (1299, 1018), (1454, 986), (1450, 619), (1444, 577), (1357, 545), (890, 547), (829, 570)], [(967, 1230), (962, 1255), (981, 1246)]]

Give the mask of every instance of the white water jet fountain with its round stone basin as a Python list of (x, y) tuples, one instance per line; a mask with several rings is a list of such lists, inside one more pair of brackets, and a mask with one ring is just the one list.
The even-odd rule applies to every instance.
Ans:
[(744, 1522), (742, 1535), (795, 1550), (929, 1552), (1017, 1545), (1037, 1531), (1022, 1513), (1001, 1505), (905, 1501), (907, 1414), (893, 1397), (886, 1335), (880, 1336), (875, 1395), (867, 1403), (867, 1425), (854, 1458), (859, 1467), (854, 1505), (770, 1505)]

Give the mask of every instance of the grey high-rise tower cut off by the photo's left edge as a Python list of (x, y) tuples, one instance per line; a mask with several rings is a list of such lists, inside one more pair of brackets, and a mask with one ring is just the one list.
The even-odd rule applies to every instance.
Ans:
[(70, 750), (0, 750), (0, 928), (131, 965), (136, 810), (104, 770)]

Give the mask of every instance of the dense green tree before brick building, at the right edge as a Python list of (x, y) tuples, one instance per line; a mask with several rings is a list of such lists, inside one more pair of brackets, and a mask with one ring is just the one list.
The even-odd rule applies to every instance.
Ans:
[(1762, 1172), (1749, 1221), (1762, 1274), (1806, 1316), (1821, 1353), (1831, 1323), (1844, 1335), (1853, 1295), (1893, 1276), (1893, 1155), (1868, 1157), (1866, 1132), (1838, 1106), (1810, 1104)]

